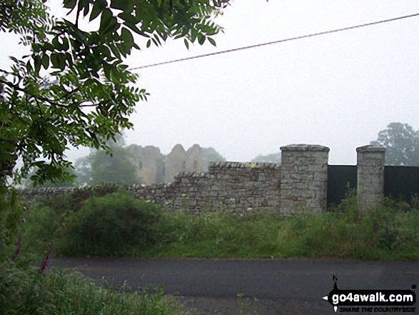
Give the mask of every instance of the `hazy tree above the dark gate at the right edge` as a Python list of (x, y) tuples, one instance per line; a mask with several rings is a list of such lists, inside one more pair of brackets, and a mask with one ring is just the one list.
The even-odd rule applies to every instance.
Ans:
[(408, 124), (393, 122), (370, 143), (385, 147), (385, 164), (419, 166), (419, 131)]

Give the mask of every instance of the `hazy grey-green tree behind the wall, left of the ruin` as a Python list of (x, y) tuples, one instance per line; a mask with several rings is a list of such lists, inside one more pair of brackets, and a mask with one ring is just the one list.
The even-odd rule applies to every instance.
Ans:
[(76, 180), (79, 184), (141, 184), (136, 177), (136, 167), (132, 162), (131, 152), (124, 147), (122, 137), (117, 140), (117, 142), (107, 143), (112, 154), (108, 154), (103, 149), (93, 149), (89, 156), (76, 162)]

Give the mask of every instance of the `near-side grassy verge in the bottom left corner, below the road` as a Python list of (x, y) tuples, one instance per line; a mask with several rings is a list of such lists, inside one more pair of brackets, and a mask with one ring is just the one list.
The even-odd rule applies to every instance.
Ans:
[(0, 309), (5, 315), (187, 314), (162, 291), (116, 289), (66, 271), (39, 275), (36, 269), (11, 261), (0, 267)]

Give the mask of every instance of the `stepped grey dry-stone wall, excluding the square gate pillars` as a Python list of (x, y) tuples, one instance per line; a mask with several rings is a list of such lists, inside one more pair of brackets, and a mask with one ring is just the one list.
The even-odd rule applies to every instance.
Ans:
[[(182, 172), (169, 184), (133, 185), (126, 189), (138, 199), (153, 200), (166, 211), (278, 212), (280, 170), (278, 164), (211, 162), (208, 173)], [(73, 190), (73, 187), (24, 189), (24, 195), (36, 199), (61, 196)]]

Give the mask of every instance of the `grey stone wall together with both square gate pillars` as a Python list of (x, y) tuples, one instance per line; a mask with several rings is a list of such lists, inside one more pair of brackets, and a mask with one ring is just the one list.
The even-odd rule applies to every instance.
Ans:
[[(134, 185), (127, 189), (138, 199), (151, 199), (167, 211), (200, 213), (226, 209), (234, 213), (274, 214), (325, 211), (329, 149), (293, 144), (281, 150), (281, 165), (216, 162), (210, 164), (208, 172), (182, 172), (169, 184)], [(363, 146), (357, 151), (357, 194), (360, 206), (365, 209), (383, 197), (385, 151), (373, 146)], [(61, 196), (69, 191), (72, 188), (26, 189), (24, 195), (34, 199)]]

